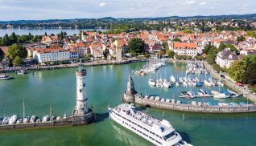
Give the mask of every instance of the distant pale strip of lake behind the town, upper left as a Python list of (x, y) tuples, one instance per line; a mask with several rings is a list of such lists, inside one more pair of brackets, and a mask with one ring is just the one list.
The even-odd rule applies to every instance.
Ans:
[[(83, 29), (84, 31), (87, 30), (95, 30), (95, 29)], [(100, 31), (105, 31), (105, 29), (98, 29)], [(61, 31), (67, 32), (68, 35), (72, 34), (79, 34), (78, 29), (0, 29), (0, 37), (4, 36), (5, 34), (11, 34), (15, 33), (17, 35), (23, 35), (23, 34), (29, 34), (31, 33), (32, 35), (44, 35), (46, 32), (47, 35), (50, 34), (59, 34)]]

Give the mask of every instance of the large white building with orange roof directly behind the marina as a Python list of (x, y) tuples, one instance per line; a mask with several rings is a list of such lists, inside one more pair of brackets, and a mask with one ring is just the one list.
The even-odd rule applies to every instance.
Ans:
[(169, 43), (169, 47), (176, 55), (196, 56), (198, 53), (196, 43), (171, 42)]

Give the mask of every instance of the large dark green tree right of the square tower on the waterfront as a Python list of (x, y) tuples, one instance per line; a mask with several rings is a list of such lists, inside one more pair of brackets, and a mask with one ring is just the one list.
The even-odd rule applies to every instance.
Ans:
[(144, 41), (142, 41), (142, 39), (138, 39), (138, 38), (130, 39), (130, 42), (128, 43), (128, 51), (133, 55), (142, 53), (144, 51), (145, 46), (146, 45)]

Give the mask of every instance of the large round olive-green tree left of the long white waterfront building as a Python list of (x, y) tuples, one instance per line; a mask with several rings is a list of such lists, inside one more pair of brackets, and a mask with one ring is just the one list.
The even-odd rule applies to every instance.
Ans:
[(17, 43), (14, 43), (8, 48), (7, 57), (10, 60), (14, 60), (16, 56), (19, 56), (21, 59), (27, 58), (27, 49)]

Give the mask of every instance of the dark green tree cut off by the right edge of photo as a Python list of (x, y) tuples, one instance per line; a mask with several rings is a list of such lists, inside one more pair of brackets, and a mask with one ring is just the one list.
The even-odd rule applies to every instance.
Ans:
[(256, 63), (250, 63), (246, 68), (245, 75), (243, 76), (243, 83), (249, 83), (250, 85), (256, 84)]

